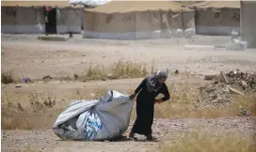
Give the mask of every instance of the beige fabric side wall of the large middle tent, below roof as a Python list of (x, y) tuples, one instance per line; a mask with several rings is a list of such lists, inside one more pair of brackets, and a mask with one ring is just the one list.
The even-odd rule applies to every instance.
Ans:
[(178, 29), (195, 31), (194, 12), (84, 12), (84, 38), (171, 38)]

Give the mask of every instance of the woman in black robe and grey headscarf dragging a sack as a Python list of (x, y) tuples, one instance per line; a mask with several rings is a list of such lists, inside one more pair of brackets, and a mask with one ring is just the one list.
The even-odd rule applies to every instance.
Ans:
[[(136, 122), (129, 135), (130, 138), (135, 138), (135, 133), (142, 134), (147, 137), (147, 140), (155, 139), (152, 137), (152, 121), (154, 103), (161, 103), (169, 99), (168, 87), (165, 84), (168, 78), (168, 73), (159, 71), (156, 75), (150, 76), (142, 81), (136, 88), (130, 99), (136, 98)], [(155, 99), (159, 94), (165, 97)]]

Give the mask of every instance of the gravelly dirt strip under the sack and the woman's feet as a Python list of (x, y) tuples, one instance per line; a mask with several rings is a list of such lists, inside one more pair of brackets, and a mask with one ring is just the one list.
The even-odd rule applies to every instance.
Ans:
[[(211, 134), (232, 132), (241, 136), (255, 133), (255, 117), (230, 117), (217, 119), (155, 119), (153, 130), (158, 142), (72, 142), (61, 141), (52, 130), (2, 130), (3, 151), (146, 151), (164, 141), (177, 142), (184, 132), (200, 129)], [(130, 128), (129, 128), (130, 129)]]

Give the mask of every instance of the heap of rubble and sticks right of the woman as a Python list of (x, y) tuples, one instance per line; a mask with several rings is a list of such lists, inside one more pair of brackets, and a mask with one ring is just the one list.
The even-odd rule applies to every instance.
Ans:
[(219, 75), (206, 75), (204, 80), (213, 83), (200, 87), (197, 102), (200, 106), (227, 105), (237, 95), (256, 92), (256, 73), (241, 72), (239, 69)]

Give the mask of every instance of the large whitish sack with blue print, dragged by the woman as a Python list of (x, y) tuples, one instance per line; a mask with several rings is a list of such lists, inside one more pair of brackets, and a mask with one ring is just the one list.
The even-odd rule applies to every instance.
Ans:
[(77, 100), (58, 115), (54, 132), (63, 140), (109, 140), (129, 126), (133, 100), (109, 90), (98, 100)]

